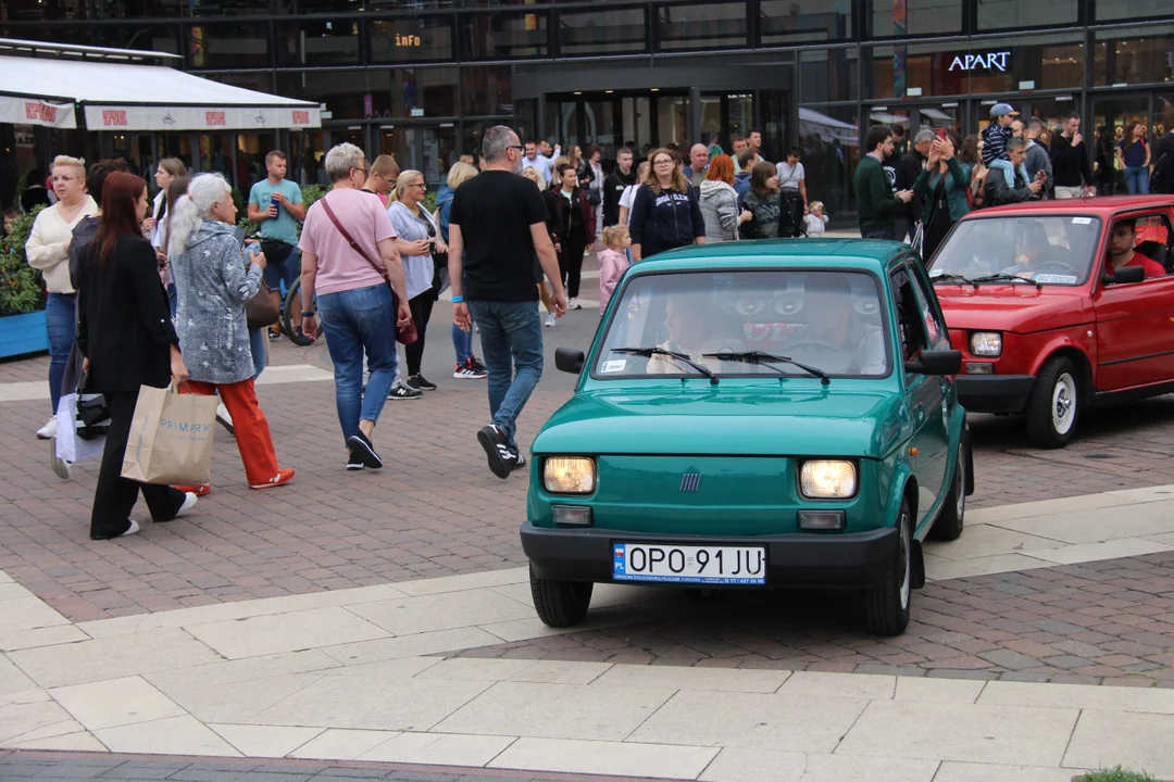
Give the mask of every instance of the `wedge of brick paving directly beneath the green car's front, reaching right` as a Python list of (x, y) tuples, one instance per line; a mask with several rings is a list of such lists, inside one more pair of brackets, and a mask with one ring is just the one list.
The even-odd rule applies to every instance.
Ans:
[(460, 657), (1174, 688), (1174, 552), (932, 583), (899, 638), (866, 634), (855, 607), (846, 594), (727, 592), (661, 621)]

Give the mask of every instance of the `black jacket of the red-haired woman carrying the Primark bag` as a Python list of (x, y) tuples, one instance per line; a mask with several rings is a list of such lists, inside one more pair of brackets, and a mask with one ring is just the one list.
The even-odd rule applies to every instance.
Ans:
[(167, 388), (178, 345), (155, 249), (119, 237), (104, 261), (92, 242), (77, 265), (77, 348), (89, 359), (92, 393)]

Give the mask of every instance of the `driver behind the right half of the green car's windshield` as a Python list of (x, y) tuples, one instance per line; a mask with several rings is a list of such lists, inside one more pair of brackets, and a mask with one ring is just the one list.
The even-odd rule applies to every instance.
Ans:
[(852, 306), (852, 285), (843, 274), (818, 272), (804, 283), (807, 327), (783, 345), (798, 361), (829, 374), (883, 375), (886, 369), (884, 332), (865, 322)]

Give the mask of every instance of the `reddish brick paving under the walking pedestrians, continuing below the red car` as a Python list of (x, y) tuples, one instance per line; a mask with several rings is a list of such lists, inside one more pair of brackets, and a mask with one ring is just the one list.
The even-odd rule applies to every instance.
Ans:
[[(547, 356), (561, 345), (586, 346), (596, 317), (585, 310), (544, 329)], [(53, 476), (48, 446), (32, 434), (48, 404), (0, 403), (0, 570), (80, 621), (524, 564), (517, 526), (525, 481), (502, 482), (486, 469), (473, 437), (487, 417), (485, 383), (451, 379), (447, 305), (433, 322), (425, 373), (441, 389), (389, 402), (377, 430), (385, 470), (342, 469), (332, 383), (261, 386), (282, 463), (298, 470), (294, 484), (249, 491), (235, 442), (221, 433), (214, 494), (190, 517), (146, 524), (127, 540), (88, 539), (96, 464), (77, 465), (70, 481)], [(283, 341), (270, 358), (329, 367), (323, 346)], [(47, 363), (0, 362), (0, 383), (41, 380)], [(571, 393), (573, 378), (552, 365), (548, 358), (522, 417), (524, 447)], [(1031, 449), (1014, 419), (976, 416), (972, 429), (972, 506), (1154, 485), (1174, 475), (1174, 396), (1089, 416), (1062, 451)]]

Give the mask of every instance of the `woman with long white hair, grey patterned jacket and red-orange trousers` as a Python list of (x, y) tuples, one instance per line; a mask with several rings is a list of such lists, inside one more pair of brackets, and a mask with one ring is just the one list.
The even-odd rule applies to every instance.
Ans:
[[(269, 422), (252, 387), (252, 349), (244, 302), (261, 288), (265, 257), (249, 256), (232, 236), (236, 204), (218, 174), (202, 174), (188, 185), (171, 217), (168, 260), (178, 294), (175, 329), (196, 394), (220, 394), (232, 416), (236, 444), (250, 489), (270, 489), (294, 478), (277, 464)], [(177, 487), (178, 488), (178, 487)], [(208, 494), (209, 487), (182, 491)]]

